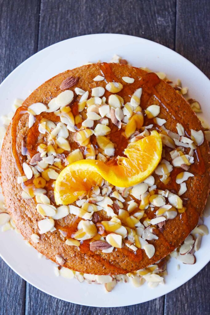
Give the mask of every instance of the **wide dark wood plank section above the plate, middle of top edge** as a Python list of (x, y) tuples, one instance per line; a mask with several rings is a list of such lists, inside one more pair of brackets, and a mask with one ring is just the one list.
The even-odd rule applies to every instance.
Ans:
[(43, 0), (38, 49), (66, 38), (121, 33), (174, 49), (175, 0)]

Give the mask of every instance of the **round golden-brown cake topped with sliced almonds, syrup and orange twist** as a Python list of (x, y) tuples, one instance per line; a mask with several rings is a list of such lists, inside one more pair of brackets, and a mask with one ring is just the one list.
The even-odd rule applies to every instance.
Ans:
[(195, 228), (208, 161), (178, 91), (155, 73), (97, 63), (51, 78), (17, 109), (1, 186), (17, 228), (47, 258), (125, 274), (161, 261)]

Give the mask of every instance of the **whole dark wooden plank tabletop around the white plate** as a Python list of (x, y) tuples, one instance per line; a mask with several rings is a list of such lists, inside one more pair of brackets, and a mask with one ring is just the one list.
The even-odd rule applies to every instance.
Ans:
[[(122, 33), (161, 43), (210, 77), (209, 16), (209, 0), (0, 0), (0, 82), (38, 50), (93, 33)], [(41, 292), (1, 260), (0, 314), (209, 315), (208, 272), (210, 264), (180, 288), (150, 302), (94, 308)]]

